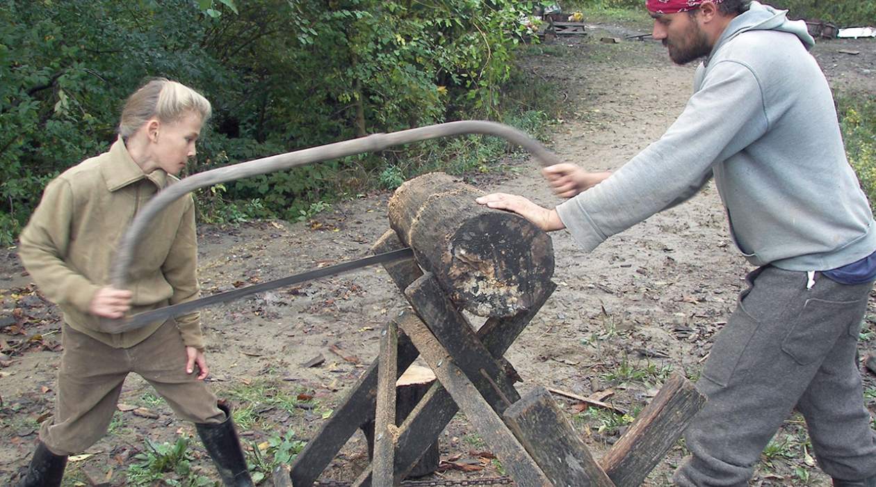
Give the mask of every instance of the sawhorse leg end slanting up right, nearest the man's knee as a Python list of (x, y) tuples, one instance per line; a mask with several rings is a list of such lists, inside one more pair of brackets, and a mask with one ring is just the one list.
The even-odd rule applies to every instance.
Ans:
[(618, 487), (633, 487), (644, 482), (705, 402), (705, 397), (688, 379), (679, 375), (670, 377), (599, 462), (605, 473)]

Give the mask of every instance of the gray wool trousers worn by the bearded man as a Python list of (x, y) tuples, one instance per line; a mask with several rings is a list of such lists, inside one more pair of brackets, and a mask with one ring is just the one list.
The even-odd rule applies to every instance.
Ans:
[(697, 389), (709, 399), (685, 434), (683, 487), (747, 485), (761, 451), (796, 408), (821, 468), (834, 478), (876, 475), (876, 433), (856, 362), (872, 284), (761, 267), (746, 278)]

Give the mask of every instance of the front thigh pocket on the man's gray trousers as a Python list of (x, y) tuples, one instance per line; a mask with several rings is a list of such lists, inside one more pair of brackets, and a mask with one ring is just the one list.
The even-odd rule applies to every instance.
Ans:
[(748, 343), (752, 341), (758, 326), (757, 321), (742, 308), (737, 307), (731, 314), (730, 321), (727, 321), (724, 329), (715, 338), (709, 359), (706, 360), (703, 368), (703, 377), (721, 387), (730, 384), (738, 367), (739, 358), (748, 348)]

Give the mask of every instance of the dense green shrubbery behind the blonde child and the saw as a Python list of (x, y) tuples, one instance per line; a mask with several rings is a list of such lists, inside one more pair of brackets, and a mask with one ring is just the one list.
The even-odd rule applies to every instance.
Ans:
[[(0, 243), (17, 236), (47, 180), (109, 146), (125, 96), (150, 76), (187, 83), (214, 103), (196, 171), (458, 118), (543, 119), (537, 110), (505, 105), (502, 96), (523, 39), (519, 19), (530, 4), (239, 4), (4, 2)], [(458, 153), (449, 152), (452, 144)], [(378, 183), (391, 186), (440, 158), (475, 164), (477, 154), (493, 145), (481, 138), (452, 144), (229, 183), (199, 194), (200, 208), (216, 221), (294, 218), (316, 201)], [(387, 167), (396, 173), (380, 178)]]

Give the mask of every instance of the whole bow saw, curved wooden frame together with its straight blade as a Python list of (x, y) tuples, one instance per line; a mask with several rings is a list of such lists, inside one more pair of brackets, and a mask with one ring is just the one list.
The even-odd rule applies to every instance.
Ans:
[[(304, 166), (323, 160), (343, 158), (362, 152), (382, 151), (393, 145), (410, 144), (412, 142), (427, 140), (430, 138), (442, 138), (463, 134), (484, 134), (505, 138), (508, 142), (511, 142), (514, 145), (519, 145), (533, 154), (535, 159), (539, 160), (541, 166), (551, 166), (562, 162), (553, 152), (548, 151), (548, 149), (541, 145), (537, 140), (513, 127), (504, 124), (497, 124), (495, 122), (484, 122), (481, 120), (463, 120), (458, 122), (448, 122), (445, 124), (429, 125), (427, 127), (418, 127), (416, 129), (408, 129), (406, 131), (398, 131), (388, 134), (372, 134), (363, 138), (345, 140), (343, 142), (336, 142), (329, 145), (320, 145), (318, 147), (311, 147), (309, 149), (295, 152), (287, 152), (285, 154), (278, 154), (263, 159), (255, 159), (232, 166), (217, 167), (176, 181), (172, 185), (159, 191), (152, 200), (146, 203), (146, 205), (138, 212), (137, 216), (134, 217), (134, 220), (131, 222), (128, 229), (125, 230), (124, 236), (122, 236), (122, 240), (119, 243), (118, 254), (113, 260), (109, 272), (110, 286), (117, 289), (127, 288), (129, 278), (128, 269), (137, 256), (138, 243), (140, 243), (143, 236), (149, 231), (149, 224), (173, 201), (180, 199), (195, 189), (239, 180), (258, 174), (283, 171), (292, 167)], [(249, 294), (260, 293), (276, 287), (288, 286), (297, 282), (317, 279), (319, 277), (325, 277), (341, 272), (349, 272), (366, 265), (391, 262), (392, 260), (408, 258), (411, 255), (409, 249), (387, 252), (371, 258), (354, 260), (339, 265), (333, 265), (331, 267), (325, 267), (323, 269), (295, 274), (276, 281), (265, 282), (255, 286), (229, 291), (227, 293), (214, 294), (199, 300), (192, 300), (186, 303), (140, 313), (127, 319), (109, 320), (103, 318), (101, 320), (102, 329), (109, 333), (130, 331), (131, 329), (141, 328), (150, 322), (185, 314), (194, 309), (205, 307), (210, 304), (236, 300)]]

